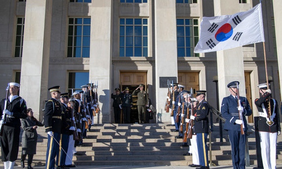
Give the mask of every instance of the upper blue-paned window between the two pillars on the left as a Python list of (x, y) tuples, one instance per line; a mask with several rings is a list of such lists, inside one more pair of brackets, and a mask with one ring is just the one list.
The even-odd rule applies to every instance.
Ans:
[(67, 57), (89, 57), (91, 18), (69, 18)]

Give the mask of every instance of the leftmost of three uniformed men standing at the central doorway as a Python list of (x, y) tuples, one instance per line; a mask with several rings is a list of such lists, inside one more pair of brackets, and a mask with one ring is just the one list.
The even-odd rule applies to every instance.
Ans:
[(115, 117), (115, 123), (120, 123), (120, 113), (121, 113), (121, 98), (122, 94), (120, 93), (119, 88), (115, 88), (115, 94), (111, 94), (111, 98), (114, 100), (113, 102), (113, 108), (114, 108), (114, 117)]

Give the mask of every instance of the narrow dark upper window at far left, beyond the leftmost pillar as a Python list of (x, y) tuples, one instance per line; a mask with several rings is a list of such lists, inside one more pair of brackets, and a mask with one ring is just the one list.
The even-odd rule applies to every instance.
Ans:
[(16, 42), (14, 57), (22, 57), (24, 35), (24, 18), (17, 18)]

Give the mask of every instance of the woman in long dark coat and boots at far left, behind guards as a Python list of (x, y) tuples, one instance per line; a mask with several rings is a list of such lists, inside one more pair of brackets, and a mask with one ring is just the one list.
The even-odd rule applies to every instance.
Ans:
[(33, 169), (31, 163), (33, 160), (33, 155), (36, 154), (36, 144), (37, 144), (37, 131), (38, 126), (44, 126), (36, 118), (33, 117), (32, 109), (27, 109), (27, 118), (21, 120), (23, 134), (22, 134), (22, 156), (21, 156), (21, 167), (25, 168), (24, 161), (28, 155), (27, 168)]

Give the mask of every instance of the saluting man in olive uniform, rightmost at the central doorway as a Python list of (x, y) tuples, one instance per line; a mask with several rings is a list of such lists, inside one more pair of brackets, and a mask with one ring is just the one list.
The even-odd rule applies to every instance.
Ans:
[(148, 102), (147, 92), (143, 90), (143, 88), (144, 84), (139, 84), (139, 86), (132, 93), (132, 95), (137, 95), (138, 97), (137, 109), (139, 114), (139, 123), (145, 123), (146, 104)]

